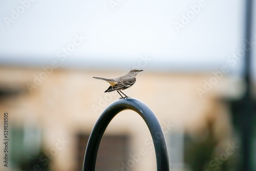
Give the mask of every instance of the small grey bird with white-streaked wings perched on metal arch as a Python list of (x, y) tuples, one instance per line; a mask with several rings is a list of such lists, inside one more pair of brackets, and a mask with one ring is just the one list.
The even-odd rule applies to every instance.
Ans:
[[(117, 93), (121, 96), (121, 98), (127, 98), (128, 96), (126, 96), (121, 90), (128, 89), (131, 86), (133, 86), (133, 84), (136, 81), (136, 75), (141, 71), (143, 70), (133, 69), (129, 71), (128, 74), (118, 78), (113, 78), (113, 79), (100, 78), (100, 77), (92, 77), (92, 78), (101, 79), (110, 83), (111, 86), (104, 93), (112, 92), (116, 90)], [(121, 92), (125, 97), (123, 97), (119, 92)]]

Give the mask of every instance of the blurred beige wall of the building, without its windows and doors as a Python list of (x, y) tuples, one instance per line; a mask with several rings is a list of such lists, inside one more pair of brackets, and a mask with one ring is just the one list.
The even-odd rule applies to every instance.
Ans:
[[(109, 84), (91, 76), (114, 78), (124, 71), (56, 69), (30, 92), (26, 84), (34, 84), (34, 75), (42, 76), (42, 72), (42, 69), (0, 68), (1, 89), (20, 91), (17, 96), (1, 99), (1, 116), (7, 111), (10, 124), (39, 127), (43, 132), (43, 143), (49, 149), (56, 145), (58, 138), (69, 141), (54, 156), (51, 167), (54, 170), (73, 170), (76, 168), (76, 134), (90, 134), (101, 112), (119, 98), (116, 92), (104, 93)], [(239, 96), (242, 87), (239, 80), (224, 77), (200, 97), (197, 89), (203, 88), (204, 80), (211, 77), (212, 74), (157, 73), (145, 70), (137, 75), (134, 86), (124, 93), (146, 103), (156, 114), (163, 129), (167, 130), (166, 134), (179, 131), (184, 126), (186, 132), (195, 136), (204, 135), (207, 121), (213, 120), (218, 125), (216, 136), (225, 140), (230, 137), (231, 130), (229, 111), (224, 103), (217, 100)], [(231, 89), (229, 85), (234, 83), (237, 87)], [(173, 125), (171, 129), (166, 127), (168, 124)], [(154, 149), (145, 143), (150, 134), (137, 114), (132, 111), (122, 112), (114, 118), (105, 134), (130, 135), (129, 153), (138, 153), (140, 148), (145, 149), (146, 153), (133, 170), (156, 170)], [(1, 150), (1, 156), (2, 153)]]

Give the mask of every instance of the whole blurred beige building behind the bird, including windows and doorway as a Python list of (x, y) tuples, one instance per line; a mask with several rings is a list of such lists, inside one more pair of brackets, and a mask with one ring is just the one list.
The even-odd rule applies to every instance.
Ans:
[[(125, 72), (2, 66), (0, 129), (8, 113), (9, 167), (1, 164), (1, 170), (81, 170), (96, 120), (119, 98), (116, 92), (104, 93), (109, 84), (91, 76), (114, 78)], [(225, 99), (239, 98), (243, 91), (239, 78), (221, 72), (145, 70), (124, 93), (146, 103), (159, 119), (171, 170), (236, 170), (240, 142)], [(138, 114), (123, 111), (114, 118), (96, 168), (156, 170), (153, 141)]]

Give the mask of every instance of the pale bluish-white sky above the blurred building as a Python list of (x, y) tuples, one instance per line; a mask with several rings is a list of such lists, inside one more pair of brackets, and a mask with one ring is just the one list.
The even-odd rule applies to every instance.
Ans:
[(0, 18), (1, 63), (122, 68), (147, 56), (148, 68), (166, 70), (243, 65), (232, 57), (244, 47), (243, 0), (1, 1)]

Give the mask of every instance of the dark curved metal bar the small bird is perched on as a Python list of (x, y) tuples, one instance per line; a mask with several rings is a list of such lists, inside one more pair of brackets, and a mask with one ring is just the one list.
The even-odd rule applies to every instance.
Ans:
[(112, 104), (110, 104), (103, 111), (103, 113), (100, 115), (99, 119), (95, 123), (88, 140), (86, 153), (84, 155), (83, 171), (95, 170), (100, 140), (106, 130), (106, 127), (119, 112), (128, 109), (137, 112), (144, 119), (148, 129), (150, 130), (155, 146), (157, 170), (169, 170), (166, 142), (161, 125), (158, 122), (155, 114), (142, 101), (134, 98), (125, 98), (116, 100)]

